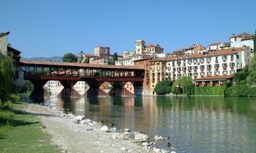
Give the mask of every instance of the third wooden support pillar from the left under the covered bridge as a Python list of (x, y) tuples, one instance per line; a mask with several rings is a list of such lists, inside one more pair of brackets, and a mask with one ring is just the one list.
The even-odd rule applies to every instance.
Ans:
[(87, 97), (109, 96), (109, 93), (104, 92), (104, 90), (100, 88), (103, 82), (87, 81), (86, 83), (90, 88), (85, 93), (85, 96)]

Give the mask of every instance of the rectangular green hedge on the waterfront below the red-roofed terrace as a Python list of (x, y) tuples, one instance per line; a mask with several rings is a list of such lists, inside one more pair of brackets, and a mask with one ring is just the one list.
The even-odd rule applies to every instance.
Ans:
[(195, 95), (224, 95), (225, 86), (196, 86)]

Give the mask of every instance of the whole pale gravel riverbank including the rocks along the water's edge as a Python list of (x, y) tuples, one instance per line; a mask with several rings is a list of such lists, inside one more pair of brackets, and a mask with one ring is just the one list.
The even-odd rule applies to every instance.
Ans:
[(154, 148), (143, 133), (109, 128), (85, 116), (66, 114), (63, 109), (29, 104), (24, 110), (40, 118), (44, 131), (63, 152), (170, 152)]

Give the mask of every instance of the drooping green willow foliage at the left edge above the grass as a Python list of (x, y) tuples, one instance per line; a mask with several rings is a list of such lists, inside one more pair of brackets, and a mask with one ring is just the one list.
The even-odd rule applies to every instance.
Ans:
[(12, 58), (2, 56), (0, 58), (0, 103), (3, 106), (10, 99), (12, 93), (14, 67)]

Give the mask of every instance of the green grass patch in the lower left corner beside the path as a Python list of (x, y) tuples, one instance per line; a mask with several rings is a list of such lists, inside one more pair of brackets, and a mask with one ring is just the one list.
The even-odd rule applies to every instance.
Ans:
[(36, 116), (21, 111), (25, 103), (12, 103), (0, 110), (0, 152), (60, 152), (42, 131)]

